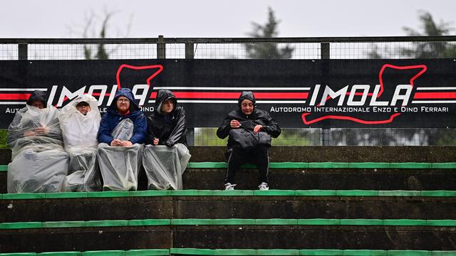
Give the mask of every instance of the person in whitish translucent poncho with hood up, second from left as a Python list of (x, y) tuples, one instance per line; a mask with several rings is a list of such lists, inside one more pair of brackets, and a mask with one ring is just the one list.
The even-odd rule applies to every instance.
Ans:
[(100, 191), (97, 134), (100, 127), (98, 101), (91, 95), (77, 97), (58, 116), (65, 150), (70, 155), (66, 191)]

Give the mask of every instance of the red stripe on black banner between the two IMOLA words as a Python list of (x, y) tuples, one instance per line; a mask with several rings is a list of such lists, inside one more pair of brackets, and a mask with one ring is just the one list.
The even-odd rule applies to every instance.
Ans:
[[(173, 92), (179, 99), (238, 99), (240, 92)], [(254, 92), (256, 100), (301, 100), (309, 97), (309, 92)], [(157, 92), (150, 94), (151, 98), (157, 97)]]

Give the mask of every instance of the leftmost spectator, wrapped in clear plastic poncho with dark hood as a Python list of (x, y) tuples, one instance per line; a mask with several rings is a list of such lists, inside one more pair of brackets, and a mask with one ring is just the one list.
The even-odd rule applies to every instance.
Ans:
[(34, 91), (9, 125), (12, 161), (8, 193), (59, 192), (68, 172), (58, 110), (46, 105), (46, 92)]

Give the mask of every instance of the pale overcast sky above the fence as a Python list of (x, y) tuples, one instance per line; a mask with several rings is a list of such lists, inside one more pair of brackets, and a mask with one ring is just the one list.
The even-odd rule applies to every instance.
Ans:
[(114, 13), (108, 37), (246, 37), (268, 6), (283, 37), (405, 36), (404, 26), (421, 31), (420, 10), (456, 27), (454, 0), (9, 0), (0, 38), (78, 38), (91, 13), (99, 27), (106, 12)]

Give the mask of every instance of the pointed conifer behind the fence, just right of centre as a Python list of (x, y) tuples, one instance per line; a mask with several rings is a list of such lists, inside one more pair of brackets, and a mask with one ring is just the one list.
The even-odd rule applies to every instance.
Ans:
[[(254, 38), (273, 38), (278, 36), (278, 20), (274, 16), (274, 11), (269, 7), (268, 21), (264, 25), (252, 22), (253, 31), (248, 33)], [(286, 45), (284, 48), (279, 48), (276, 43), (247, 43), (245, 45), (249, 58), (257, 59), (289, 59), (293, 54), (294, 48)]]

